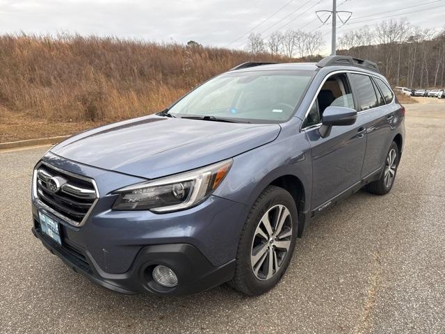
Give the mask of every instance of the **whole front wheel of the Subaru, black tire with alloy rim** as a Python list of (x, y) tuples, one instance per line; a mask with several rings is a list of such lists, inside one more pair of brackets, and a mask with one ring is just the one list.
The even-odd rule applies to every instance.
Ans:
[[(283, 223), (275, 224), (280, 216), (284, 217)], [(270, 221), (269, 228), (266, 228), (265, 217)], [(289, 266), (297, 233), (298, 213), (293, 197), (280, 187), (268, 186), (252, 205), (245, 221), (238, 244), (235, 275), (229, 285), (248, 296), (272, 289)], [(269, 260), (272, 260), (271, 271)]]

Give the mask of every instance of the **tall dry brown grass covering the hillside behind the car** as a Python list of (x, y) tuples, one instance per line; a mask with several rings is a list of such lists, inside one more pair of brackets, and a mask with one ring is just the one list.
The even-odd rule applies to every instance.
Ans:
[(51, 122), (131, 118), (159, 111), (201, 81), (251, 60), (286, 61), (118, 38), (1, 35), (0, 108), (8, 117)]

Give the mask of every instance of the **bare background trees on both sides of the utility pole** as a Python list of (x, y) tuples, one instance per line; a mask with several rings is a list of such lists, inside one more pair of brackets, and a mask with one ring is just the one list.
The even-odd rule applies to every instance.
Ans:
[[(276, 31), (265, 39), (251, 33), (245, 50), (251, 54), (317, 59), (324, 46), (320, 31), (289, 29)], [(421, 29), (405, 18), (388, 19), (340, 34), (337, 49), (337, 54), (378, 63), (380, 72), (394, 86), (445, 88), (445, 29)]]

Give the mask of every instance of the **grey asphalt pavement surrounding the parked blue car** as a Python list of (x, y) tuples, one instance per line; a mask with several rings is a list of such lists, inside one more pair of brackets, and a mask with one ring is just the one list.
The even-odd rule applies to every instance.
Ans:
[(445, 103), (407, 105), (406, 125), (391, 193), (323, 212), (282, 283), (255, 298), (90, 283), (30, 232), (31, 170), (47, 148), (0, 152), (0, 332), (445, 333)]

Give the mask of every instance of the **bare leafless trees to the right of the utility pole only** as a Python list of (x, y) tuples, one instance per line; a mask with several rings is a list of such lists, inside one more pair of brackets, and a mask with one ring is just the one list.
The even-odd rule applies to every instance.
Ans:
[(343, 33), (339, 54), (369, 59), (395, 86), (444, 88), (445, 29), (421, 29), (389, 19)]

